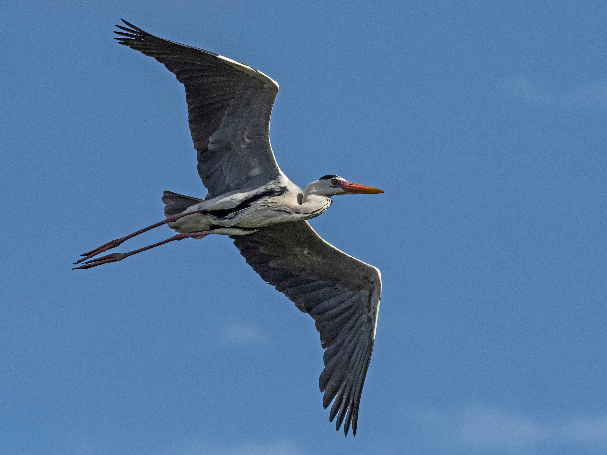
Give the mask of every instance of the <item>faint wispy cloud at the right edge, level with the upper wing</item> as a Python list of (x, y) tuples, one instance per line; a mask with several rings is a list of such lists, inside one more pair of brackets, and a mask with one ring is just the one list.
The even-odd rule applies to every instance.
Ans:
[(504, 92), (537, 106), (563, 107), (568, 109), (589, 109), (607, 107), (607, 83), (582, 84), (556, 89), (519, 76), (503, 84)]

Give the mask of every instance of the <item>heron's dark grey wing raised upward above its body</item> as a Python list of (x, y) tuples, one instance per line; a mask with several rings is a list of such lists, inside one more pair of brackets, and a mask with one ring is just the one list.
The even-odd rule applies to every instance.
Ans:
[(251, 190), (280, 175), (270, 146), (270, 114), (278, 84), (232, 59), (138, 29), (116, 38), (154, 57), (185, 86), (188, 121), (207, 199)]

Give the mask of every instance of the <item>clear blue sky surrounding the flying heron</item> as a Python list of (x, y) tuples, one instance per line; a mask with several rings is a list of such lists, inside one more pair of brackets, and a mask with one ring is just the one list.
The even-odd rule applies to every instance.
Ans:
[[(0, 6), (0, 453), (592, 455), (607, 450), (605, 2)], [(120, 18), (280, 84), (312, 221), (382, 271), (358, 436), (322, 409), (313, 320), (228, 238), (71, 271), (204, 196), (183, 88)], [(124, 244), (169, 237), (163, 227)]]

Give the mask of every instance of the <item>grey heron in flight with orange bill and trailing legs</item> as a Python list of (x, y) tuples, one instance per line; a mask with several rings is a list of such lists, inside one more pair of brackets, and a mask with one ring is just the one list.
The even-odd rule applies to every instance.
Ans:
[[(205, 199), (165, 191), (165, 220), (83, 254), (75, 269), (123, 260), (183, 238), (228, 235), (264, 281), (314, 318), (325, 349), (320, 391), (333, 402), (336, 429), (356, 422), (381, 298), (379, 270), (322, 240), (307, 220), (324, 213), (333, 196), (381, 189), (328, 174), (302, 191), (282, 173), (270, 146), (270, 114), (278, 84), (222, 55), (150, 35), (124, 21), (118, 42), (154, 57), (185, 86), (189, 128)], [(129, 238), (168, 224), (171, 238), (127, 253), (92, 259)]]

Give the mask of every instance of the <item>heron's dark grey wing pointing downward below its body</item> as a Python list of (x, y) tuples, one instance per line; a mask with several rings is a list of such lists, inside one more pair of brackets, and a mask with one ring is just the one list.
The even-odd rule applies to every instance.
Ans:
[[(379, 270), (322, 240), (307, 221), (277, 223), (232, 237), (263, 280), (308, 312), (320, 332), (325, 369), (320, 391), (337, 430), (345, 417), (356, 434), (362, 386), (371, 360), (381, 297)], [(347, 415), (346, 415), (347, 413)]]

